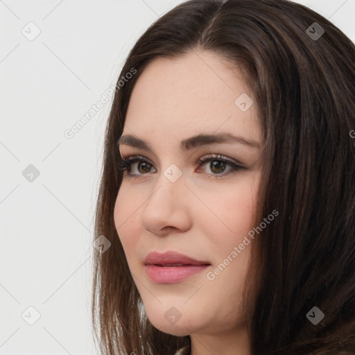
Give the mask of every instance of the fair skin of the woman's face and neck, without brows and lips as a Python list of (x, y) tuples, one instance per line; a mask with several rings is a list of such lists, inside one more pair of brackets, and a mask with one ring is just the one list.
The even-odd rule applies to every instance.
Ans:
[[(207, 279), (207, 272), (254, 227), (261, 150), (239, 143), (180, 150), (183, 139), (222, 132), (254, 139), (262, 147), (256, 105), (242, 112), (234, 104), (242, 93), (252, 97), (252, 92), (241, 72), (226, 63), (206, 51), (150, 62), (133, 89), (123, 135), (144, 139), (154, 153), (119, 146), (123, 157), (143, 155), (148, 161), (148, 167), (132, 164), (130, 172), (138, 178), (124, 172), (114, 208), (130, 272), (150, 322), (168, 334), (191, 336), (191, 355), (251, 355), (241, 295), (253, 242), (215, 279)], [(214, 168), (213, 161), (198, 166), (209, 153), (237, 159), (248, 170)], [(171, 164), (182, 171), (175, 182), (164, 175)], [(182, 282), (156, 284), (144, 265), (153, 250), (174, 250), (211, 266)], [(175, 324), (164, 317), (172, 306), (181, 314)]]

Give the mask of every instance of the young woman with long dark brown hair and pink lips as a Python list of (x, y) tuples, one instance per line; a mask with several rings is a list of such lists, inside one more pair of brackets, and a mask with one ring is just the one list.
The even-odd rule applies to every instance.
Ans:
[(355, 354), (355, 48), (286, 0), (141, 36), (105, 137), (103, 354)]

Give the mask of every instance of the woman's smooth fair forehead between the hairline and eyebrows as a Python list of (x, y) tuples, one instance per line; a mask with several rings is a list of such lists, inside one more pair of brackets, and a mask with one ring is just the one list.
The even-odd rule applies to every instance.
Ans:
[(218, 131), (260, 141), (257, 107), (252, 104), (243, 112), (236, 104), (239, 97), (253, 94), (241, 71), (232, 68), (224, 58), (205, 51), (156, 58), (132, 91), (124, 134), (180, 140)]

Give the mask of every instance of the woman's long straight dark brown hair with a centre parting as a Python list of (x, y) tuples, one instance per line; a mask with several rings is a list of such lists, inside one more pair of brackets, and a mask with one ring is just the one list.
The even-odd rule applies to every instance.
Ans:
[[(154, 58), (196, 49), (243, 69), (265, 142), (255, 223), (279, 211), (252, 245), (245, 282), (252, 354), (354, 355), (355, 47), (327, 19), (286, 0), (187, 1), (157, 19), (125, 60), (120, 77), (135, 75), (116, 87), (96, 206), (94, 239), (112, 243), (94, 257), (101, 354), (171, 355), (191, 345), (148, 320), (113, 212), (122, 181), (116, 142), (139, 75)], [(306, 317), (314, 306), (324, 313), (318, 324)]]

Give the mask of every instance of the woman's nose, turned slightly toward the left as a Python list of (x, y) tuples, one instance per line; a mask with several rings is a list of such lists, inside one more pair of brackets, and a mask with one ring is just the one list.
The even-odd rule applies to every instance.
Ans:
[(172, 230), (188, 230), (191, 225), (190, 194), (183, 175), (172, 182), (162, 173), (143, 207), (142, 226), (159, 236), (165, 236)]

